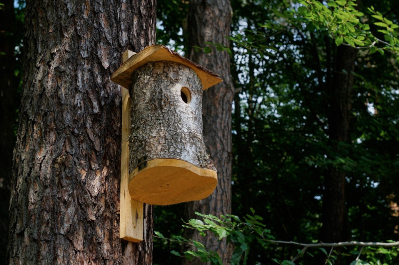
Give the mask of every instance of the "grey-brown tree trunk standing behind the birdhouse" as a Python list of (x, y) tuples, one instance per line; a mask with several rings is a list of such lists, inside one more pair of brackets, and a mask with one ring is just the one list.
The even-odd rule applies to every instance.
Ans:
[[(226, 51), (196, 52), (195, 46), (204, 47), (205, 42), (222, 43), (230, 33), (231, 5), (229, 0), (193, 0), (189, 13), (189, 58), (219, 74), (220, 83), (204, 91), (202, 120), (205, 146), (217, 170), (218, 183), (215, 191), (206, 199), (186, 205), (186, 219), (197, 218), (195, 211), (217, 216), (231, 213), (231, 105), (234, 88), (230, 78), (230, 57)], [(216, 237), (203, 238), (193, 230), (185, 231), (186, 238), (202, 242), (206, 248), (217, 251), (223, 264), (228, 264), (232, 254), (231, 244)], [(184, 261), (200, 264), (199, 260)]]

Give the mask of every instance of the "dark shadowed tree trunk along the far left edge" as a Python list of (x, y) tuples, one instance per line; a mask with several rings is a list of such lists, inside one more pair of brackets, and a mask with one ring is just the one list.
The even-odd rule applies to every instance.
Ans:
[[(14, 125), (18, 108), (18, 79), (15, 77), (14, 1), (1, 1), (0, 9), (0, 235), (8, 235), (8, 202), (10, 196)], [(6, 262), (7, 237), (0, 238), (0, 264)]]

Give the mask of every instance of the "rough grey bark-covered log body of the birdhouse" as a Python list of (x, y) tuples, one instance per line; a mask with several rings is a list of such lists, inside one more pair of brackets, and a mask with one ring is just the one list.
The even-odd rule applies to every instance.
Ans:
[[(182, 88), (190, 90), (190, 102)], [(189, 67), (172, 62), (148, 63), (132, 75), (130, 171), (138, 159), (180, 159), (214, 169), (202, 137), (202, 85)], [(186, 96), (186, 95), (184, 95)]]

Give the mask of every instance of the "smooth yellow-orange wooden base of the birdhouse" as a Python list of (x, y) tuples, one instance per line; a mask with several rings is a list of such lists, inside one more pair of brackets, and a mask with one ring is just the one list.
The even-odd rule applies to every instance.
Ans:
[(154, 159), (147, 167), (130, 173), (133, 199), (155, 205), (200, 200), (212, 193), (217, 173), (178, 159)]

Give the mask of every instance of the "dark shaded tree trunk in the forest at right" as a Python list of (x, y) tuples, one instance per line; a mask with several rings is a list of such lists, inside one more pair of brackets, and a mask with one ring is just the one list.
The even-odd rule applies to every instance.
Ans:
[[(348, 143), (352, 112), (352, 95), (357, 50), (348, 46), (337, 48), (334, 77), (329, 84), (329, 139), (335, 152), (340, 142)], [(325, 176), (323, 195), (323, 242), (341, 242), (345, 238), (345, 172), (331, 168)]]

